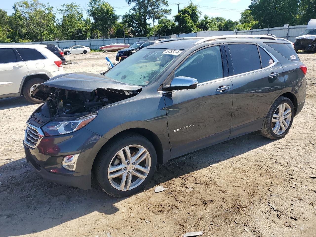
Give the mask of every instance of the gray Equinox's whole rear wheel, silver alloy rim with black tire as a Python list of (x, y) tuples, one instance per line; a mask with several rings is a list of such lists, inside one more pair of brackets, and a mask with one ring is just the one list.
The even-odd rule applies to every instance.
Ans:
[(292, 101), (280, 96), (271, 106), (261, 134), (271, 139), (284, 137), (292, 125), (294, 118), (294, 106)]

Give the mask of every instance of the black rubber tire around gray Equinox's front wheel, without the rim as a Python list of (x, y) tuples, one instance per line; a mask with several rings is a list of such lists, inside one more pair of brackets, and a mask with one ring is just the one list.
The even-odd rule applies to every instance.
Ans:
[[(110, 183), (108, 179), (108, 168), (110, 166), (112, 158), (119, 152), (119, 150), (132, 144), (141, 145), (145, 149), (147, 149), (150, 155), (151, 166), (147, 174), (147, 177), (143, 180), (142, 183), (140, 183), (137, 187), (133, 189), (121, 191), (113, 187)], [(105, 191), (107, 194), (113, 197), (131, 196), (144, 189), (153, 177), (157, 165), (157, 154), (153, 144), (150, 143), (150, 141), (147, 138), (137, 133), (128, 133), (116, 138), (101, 150), (96, 159), (97, 161), (94, 166), (94, 172), (96, 174), (98, 184), (103, 191)]]

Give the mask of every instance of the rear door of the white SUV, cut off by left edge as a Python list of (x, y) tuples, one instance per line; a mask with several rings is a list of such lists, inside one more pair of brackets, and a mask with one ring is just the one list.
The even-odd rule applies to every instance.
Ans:
[(0, 48), (0, 55), (0, 95), (18, 93), (27, 66), (12, 47)]

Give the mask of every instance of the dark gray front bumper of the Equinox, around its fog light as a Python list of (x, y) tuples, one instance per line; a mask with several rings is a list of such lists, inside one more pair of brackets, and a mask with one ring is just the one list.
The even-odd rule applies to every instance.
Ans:
[[(105, 142), (105, 138), (82, 128), (61, 136), (44, 137), (34, 149), (24, 141), (23, 145), (27, 162), (47, 181), (90, 189), (93, 161)], [(78, 153), (75, 172), (62, 167), (64, 156)]]

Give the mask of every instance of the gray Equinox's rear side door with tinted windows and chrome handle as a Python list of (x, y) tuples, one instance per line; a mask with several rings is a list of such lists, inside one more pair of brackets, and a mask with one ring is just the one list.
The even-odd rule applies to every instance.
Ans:
[(234, 87), (231, 139), (262, 128), (284, 87), (284, 73), (277, 59), (257, 44), (225, 44), (225, 48)]

